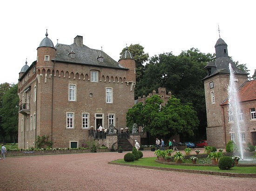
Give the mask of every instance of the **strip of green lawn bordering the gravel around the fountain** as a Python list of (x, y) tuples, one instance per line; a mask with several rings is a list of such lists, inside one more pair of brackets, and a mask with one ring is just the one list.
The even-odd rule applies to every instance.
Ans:
[(155, 162), (156, 157), (147, 157), (135, 160), (133, 162), (125, 162), (123, 159), (114, 160), (114, 163), (138, 165), (138, 166), (155, 166), (163, 168), (187, 169), (210, 172), (231, 172), (231, 173), (256, 173), (256, 167), (238, 167), (234, 166), (230, 170), (221, 170), (218, 166), (182, 166), (182, 165), (165, 165)]

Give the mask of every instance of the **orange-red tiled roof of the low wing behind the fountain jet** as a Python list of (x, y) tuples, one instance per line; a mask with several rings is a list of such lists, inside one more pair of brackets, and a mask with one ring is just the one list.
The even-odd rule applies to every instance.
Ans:
[[(237, 92), (240, 102), (256, 100), (256, 80), (246, 81), (239, 87)], [(228, 102), (229, 99), (227, 98), (221, 105), (228, 104)]]

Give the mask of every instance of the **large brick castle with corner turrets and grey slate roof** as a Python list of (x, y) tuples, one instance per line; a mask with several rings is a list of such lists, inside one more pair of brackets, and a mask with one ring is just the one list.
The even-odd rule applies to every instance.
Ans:
[(48, 136), (53, 147), (79, 147), (90, 127), (126, 127), (134, 106), (135, 60), (126, 50), (118, 62), (102, 50), (83, 45), (54, 46), (48, 33), (37, 48), (37, 60), (19, 73), (19, 148), (35, 146)]

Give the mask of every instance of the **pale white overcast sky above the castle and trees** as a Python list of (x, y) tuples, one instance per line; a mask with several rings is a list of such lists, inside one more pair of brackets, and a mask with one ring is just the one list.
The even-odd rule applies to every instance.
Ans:
[(140, 44), (149, 57), (179, 55), (194, 47), (215, 53), (220, 36), (229, 56), (256, 69), (256, 11), (251, 0), (6, 0), (0, 7), (0, 83), (18, 83), (45, 38), (54, 45), (83, 44), (118, 61), (121, 50)]

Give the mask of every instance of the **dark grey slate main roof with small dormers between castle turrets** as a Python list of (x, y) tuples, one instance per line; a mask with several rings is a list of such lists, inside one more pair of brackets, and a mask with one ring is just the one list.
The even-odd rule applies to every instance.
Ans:
[[(92, 65), (98, 67), (116, 68), (120, 70), (128, 70), (116, 62), (113, 58), (109, 57), (104, 51), (91, 49), (86, 45), (77, 46), (75, 43), (72, 45), (57, 44), (55, 46), (56, 62), (64, 62), (71, 64)], [(75, 52), (75, 57), (70, 58), (68, 53), (70, 51)], [(97, 58), (99, 55), (103, 57), (103, 63)]]

